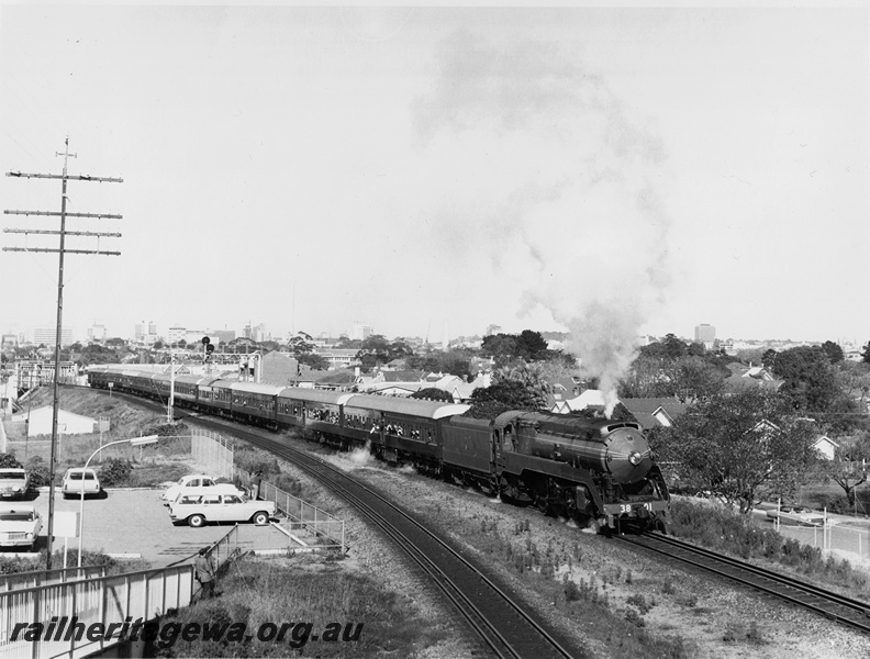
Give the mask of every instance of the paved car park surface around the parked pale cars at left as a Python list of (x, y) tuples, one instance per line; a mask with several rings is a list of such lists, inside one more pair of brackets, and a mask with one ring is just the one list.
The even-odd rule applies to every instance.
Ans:
[[(86, 499), (83, 507), (82, 548), (112, 555), (142, 557), (152, 567), (164, 567), (191, 557), (200, 547), (210, 545), (233, 528), (233, 524), (207, 524), (201, 528), (174, 526), (168, 509), (160, 502), (161, 490), (112, 490), (100, 498)], [(36, 495), (35, 499), (33, 498)], [(32, 492), (29, 501), (43, 515), (43, 529), (37, 548), (46, 546), (48, 526), (48, 492)], [(18, 502), (8, 502), (14, 504)], [(66, 500), (55, 491), (55, 512), (78, 512), (78, 499)], [(287, 548), (287, 537), (272, 526), (242, 524), (241, 540), (246, 549)], [(65, 538), (55, 533), (55, 550), (63, 550)], [(68, 539), (70, 551), (78, 549), (78, 538)], [(11, 550), (0, 550), (0, 556)]]

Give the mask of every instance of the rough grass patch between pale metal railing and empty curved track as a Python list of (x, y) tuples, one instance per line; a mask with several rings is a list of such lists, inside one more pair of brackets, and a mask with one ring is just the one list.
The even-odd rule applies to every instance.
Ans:
[[(198, 639), (157, 641), (159, 657), (408, 657), (435, 645), (443, 632), (425, 619), (408, 600), (364, 576), (338, 571), (328, 562), (317, 571), (275, 561), (241, 561), (219, 579), (217, 596), (180, 610), (160, 621), (163, 628), (190, 623), (242, 623), (253, 638), (242, 643)], [(311, 627), (288, 630), (285, 639), (260, 640), (258, 629), (283, 623)], [(338, 623), (342, 634), (358, 640), (324, 641), (322, 635)], [(350, 625), (348, 627), (348, 624)], [(268, 636), (268, 634), (264, 634)]]

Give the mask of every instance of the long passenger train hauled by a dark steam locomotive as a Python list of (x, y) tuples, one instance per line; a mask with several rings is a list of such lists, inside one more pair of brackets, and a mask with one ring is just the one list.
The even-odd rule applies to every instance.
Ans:
[(603, 533), (663, 529), (670, 494), (637, 423), (545, 411), (468, 416), (470, 405), (97, 366), (88, 383), (168, 401), (534, 505)]

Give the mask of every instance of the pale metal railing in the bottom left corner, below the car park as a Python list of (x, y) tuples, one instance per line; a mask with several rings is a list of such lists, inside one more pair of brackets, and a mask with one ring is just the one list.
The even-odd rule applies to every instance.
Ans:
[(0, 659), (83, 657), (118, 643), (91, 640), (91, 625), (141, 624), (187, 606), (192, 594), (190, 565), (0, 592)]

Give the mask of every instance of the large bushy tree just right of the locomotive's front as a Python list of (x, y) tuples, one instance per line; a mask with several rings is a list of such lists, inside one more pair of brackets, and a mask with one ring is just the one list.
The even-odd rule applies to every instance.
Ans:
[(761, 389), (700, 400), (657, 437), (682, 480), (747, 513), (773, 493), (791, 494), (814, 465), (813, 428), (788, 398)]

